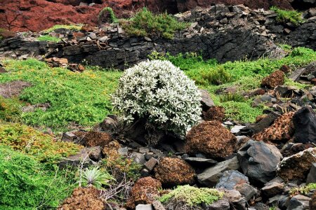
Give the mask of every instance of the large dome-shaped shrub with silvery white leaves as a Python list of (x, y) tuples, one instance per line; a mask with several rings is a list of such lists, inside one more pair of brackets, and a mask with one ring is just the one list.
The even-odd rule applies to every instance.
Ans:
[(200, 119), (201, 93), (194, 81), (169, 61), (140, 62), (126, 69), (112, 95), (114, 109), (130, 123), (145, 118), (160, 130), (185, 135)]

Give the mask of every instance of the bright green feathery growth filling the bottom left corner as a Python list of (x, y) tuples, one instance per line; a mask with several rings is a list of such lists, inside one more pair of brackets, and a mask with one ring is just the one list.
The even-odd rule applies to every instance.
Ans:
[(56, 209), (74, 188), (74, 173), (67, 173), (0, 146), (0, 209)]

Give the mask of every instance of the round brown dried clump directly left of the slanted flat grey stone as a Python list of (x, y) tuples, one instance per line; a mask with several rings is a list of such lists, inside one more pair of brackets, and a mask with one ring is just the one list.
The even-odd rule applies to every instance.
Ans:
[(180, 158), (162, 158), (154, 168), (154, 176), (165, 186), (195, 183), (195, 170)]

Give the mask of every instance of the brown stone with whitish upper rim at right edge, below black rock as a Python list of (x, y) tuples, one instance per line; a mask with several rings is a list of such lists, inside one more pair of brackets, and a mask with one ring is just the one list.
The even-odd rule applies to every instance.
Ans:
[(279, 162), (277, 175), (284, 180), (305, 181), (313, 162), (316, 162), (316, 148), (308, 148)]

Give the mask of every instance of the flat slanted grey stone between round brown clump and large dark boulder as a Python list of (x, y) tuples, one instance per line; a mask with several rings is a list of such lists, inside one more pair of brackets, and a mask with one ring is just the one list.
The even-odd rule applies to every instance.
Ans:
[(215, 166), (204, 170), (201, 174), (197, 174), (197, 181), (203, 186), (213, 187), (216, 186), (223, 172), (237, 169), (239, 169), (239, 164), (237, 157), (235, 157), (230, 160), (218, 162)]

